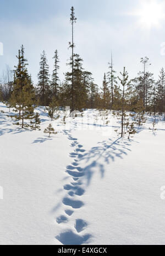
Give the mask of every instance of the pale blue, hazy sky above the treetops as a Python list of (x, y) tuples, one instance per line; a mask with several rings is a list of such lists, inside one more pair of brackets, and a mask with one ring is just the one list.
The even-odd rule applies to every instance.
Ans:
[[(72, 40), (70, 8), (78, 18), (75, 27), (75, 53), (84, 60), (101, 86), (113, 54), (114, 70), (119, 75), (125, 66), (132, 79), (142, 71), (140, 58), (147, 56), (147, 70), (155, 74), (165, 69), (165, 1), (162, 0), (0, 0), (0, 74), (17, 65), (21, 44), (29, 62), (28, 70), (37, 83), (40, 54), (46, 51), (50, 74), (57, 49), (60, 78), (69, 70)], [(145, 3), (145, 6), (144, 6)], [(147, 11), (148, 10), (148, 11)], [(2, 43), (2, 44), (1, 44)], [(164, 44), (163, 44), (164, 43)]]

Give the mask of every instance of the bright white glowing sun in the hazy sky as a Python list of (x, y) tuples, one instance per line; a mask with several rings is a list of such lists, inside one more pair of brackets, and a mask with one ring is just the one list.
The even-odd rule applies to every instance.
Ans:
[(164, 19), (163, 9), (163, 4), (157, 1), (142, 1), (141, 8), (136, 12), (141, 27), (148, 29), (160, 27), (161, 20)]

